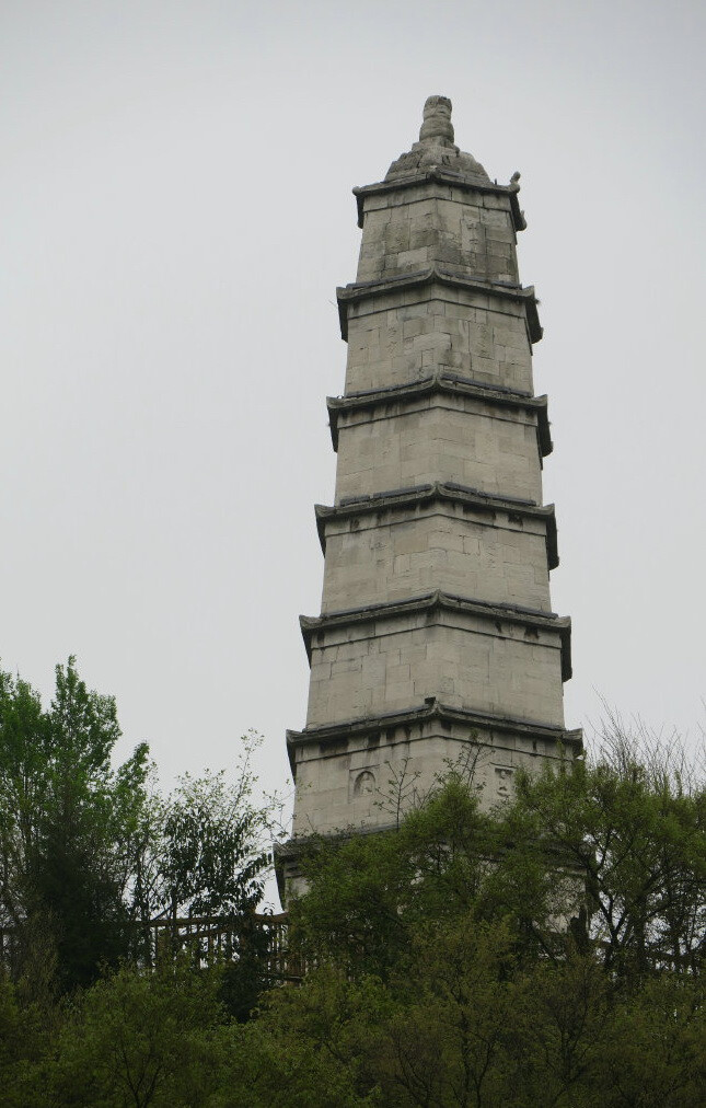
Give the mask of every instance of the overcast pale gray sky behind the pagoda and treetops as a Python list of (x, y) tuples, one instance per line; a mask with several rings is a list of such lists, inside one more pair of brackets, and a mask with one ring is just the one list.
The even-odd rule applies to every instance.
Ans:
[(165, 780), (284, 779), (350, 189), (417, 138), (522, 172), (566, 722), (704, 721), (703, 3), (4, 0), (0, 656), (70, 653)]

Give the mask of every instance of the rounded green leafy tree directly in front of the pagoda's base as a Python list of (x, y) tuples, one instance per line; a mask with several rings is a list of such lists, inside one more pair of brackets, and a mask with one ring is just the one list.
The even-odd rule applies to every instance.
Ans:
[(311, 961), (386, 978), (416, 929), (497, 901), (492, 860), (505, 830), (452, 773), (397, 831), (313, 842), (303, 858), (309, 891), (289, 912), (295, 941)]

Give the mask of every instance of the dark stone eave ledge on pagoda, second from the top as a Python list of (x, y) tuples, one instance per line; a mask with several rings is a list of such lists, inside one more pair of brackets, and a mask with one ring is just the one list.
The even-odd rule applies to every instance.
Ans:
[(424, 285), (447, 285), (451, 288), (464, 288), (471, 293), (480, 293), (484, 296), (498, 296), (505, 300), (513, 300), (522, 304), (526, 312), (528, 329), (531, 342), (539, 342), (543, 330), (540, 325), (540, 317), (536, 310), (538, 300), (534, 295), (534, 286), (528, 285), (522, 288), (520, 285), (511, 285), (508, 281), (487, 281), (472, 277), (460, 277), (450, 269), (442, 266), (430, 266), (427, 269), (417, 269), (408, 274), (399, 274), (395, 277), (383, 277), (381, 280), (360, 281), (346, 285), (345, 288), (336, 289), (338, 300), (338, 317), (340, 320), (341, 338), (348, 339), (348, 305), (357, 304), (371, 296), (382, 296), (387, 293), (397, 293), (400, 288), (418, 288)]

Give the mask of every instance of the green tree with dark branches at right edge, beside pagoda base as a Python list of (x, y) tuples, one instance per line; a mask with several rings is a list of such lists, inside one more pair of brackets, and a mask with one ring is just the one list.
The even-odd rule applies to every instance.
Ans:
[[(550, 855), (549, 873), (563, 881), (559, 903), (528, 899), (523, 909), (515, 897), (516, 911), (545, 950), (554, 946), (554, 912), (573, 916), (575, 937), (611, 973), (697, 973), (706, 936), (706, 793), (669, 773), (668, 750), (656, 770), (654, 748), (646, 758), (624, 731), (604, 738), (595, 759), (520, 776), (505, 817), (516, 889), (526, 891), (522, 873), (548, 872)], [(505, 894), (512, 899), (508, 881)]]

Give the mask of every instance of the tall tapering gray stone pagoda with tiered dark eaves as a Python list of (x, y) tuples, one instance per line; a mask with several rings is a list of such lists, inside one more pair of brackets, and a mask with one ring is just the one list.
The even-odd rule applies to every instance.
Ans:
[(552, 441), (532, 384), (538, 301), (518, 276), (518, 178), (491, 181), (454, 145), (451, 102), (430, 96), (419, 142), (354, 189), (358, 274), (337, 290), (346, 389), (328, 400), (336, 497), (316, 507), (321, 612), (300, 620), (307, 721), (287, 733), (289, 888), (297, 839), (390, 824), (390, 780), (423, 793), (472, 749), (492, 804), (518, 766), (581, 749), (563, 715), (571, 625), (550, 601)]

